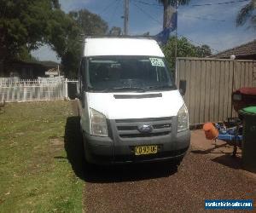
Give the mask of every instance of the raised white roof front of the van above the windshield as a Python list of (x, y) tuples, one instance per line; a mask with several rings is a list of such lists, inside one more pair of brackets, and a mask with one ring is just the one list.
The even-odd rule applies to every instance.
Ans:
[(147, 55), (164, 57), (152, 37), (86, 37), (84, 56)]

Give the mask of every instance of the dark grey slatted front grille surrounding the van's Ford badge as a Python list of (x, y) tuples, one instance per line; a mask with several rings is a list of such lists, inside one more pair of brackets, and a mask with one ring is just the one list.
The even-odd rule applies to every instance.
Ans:
[[(117, 131), (122, 138), (153, 137), (169, 135), (172, 132), (172, 117), (165, 118), (137, 118), (115, 120)], [(140, 127), (149, 125), (150, 132), (140, 131)]]

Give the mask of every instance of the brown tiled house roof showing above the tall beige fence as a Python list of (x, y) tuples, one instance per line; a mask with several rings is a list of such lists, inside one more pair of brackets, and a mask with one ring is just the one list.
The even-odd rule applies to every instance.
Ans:
[(216, 55), (212, 55), (215, 58), (230, 58), (230, 55), (246, 56), (256, 55), (256, 39), (249, 43), (241, 44), (233, 49), (227, 49)]

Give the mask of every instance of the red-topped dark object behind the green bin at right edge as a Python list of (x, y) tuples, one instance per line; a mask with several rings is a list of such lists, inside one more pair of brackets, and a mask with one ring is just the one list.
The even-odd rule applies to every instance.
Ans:
[(232, 102), (236, 112), (244, 107), (256, 106), (256, 87), (237, 89), (232, 93)]

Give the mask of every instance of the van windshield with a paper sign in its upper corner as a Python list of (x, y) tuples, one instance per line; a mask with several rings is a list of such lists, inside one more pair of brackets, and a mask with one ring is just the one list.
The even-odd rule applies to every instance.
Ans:
[(97, 56), (87, 59), (86, 83), (91, 91), (176, 89), (163, 58)]

